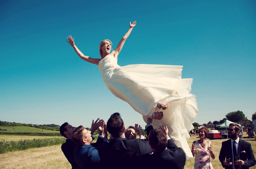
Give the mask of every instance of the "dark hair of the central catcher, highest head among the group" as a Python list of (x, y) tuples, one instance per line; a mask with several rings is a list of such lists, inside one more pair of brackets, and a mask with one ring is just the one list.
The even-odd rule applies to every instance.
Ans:
[(107, 130), (113, 138), (118, 138), (123, 133), (124, 123), (119, 113), (113, 113), (107, 121)]

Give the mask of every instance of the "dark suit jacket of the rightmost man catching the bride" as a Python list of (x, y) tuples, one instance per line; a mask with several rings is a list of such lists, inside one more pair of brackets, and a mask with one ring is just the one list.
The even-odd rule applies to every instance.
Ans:
[[(147, 127), (147, 134), (153, 127)], [(186, 164), (186, 154), (182, 148), (177, 147), (175, 143), (169, 139), (167, 149), (162, 152), (154, 152), (143, 155), (140, 159), (141, 163), (146, 169), (166, 168), (169, 166), (173, 169), (183, 169)]]

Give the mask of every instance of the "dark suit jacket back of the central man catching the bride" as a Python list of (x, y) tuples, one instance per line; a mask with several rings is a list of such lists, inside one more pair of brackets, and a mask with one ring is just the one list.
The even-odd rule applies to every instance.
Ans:
[(145, 139), (113, 138), (108, 144), (98, 147), (101, 164), (108, 164), (111, 169), (130, 169), (138, 165), (140, 156), (149, 152), (152, 150)]

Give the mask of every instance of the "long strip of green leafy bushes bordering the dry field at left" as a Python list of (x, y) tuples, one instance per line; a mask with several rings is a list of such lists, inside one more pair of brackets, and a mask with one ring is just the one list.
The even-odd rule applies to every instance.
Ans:
[(47, 147), (53, 145), (60, 145), (66, 141), (64, 137), (56, 138), (46, 138), (46, 139), (34, 139), (34, 140), (24, 140), (24, 141), (7, 141), (0, 142), (0, 154), (26, 150), (28, 148), (38, 148), (38, 147)]

